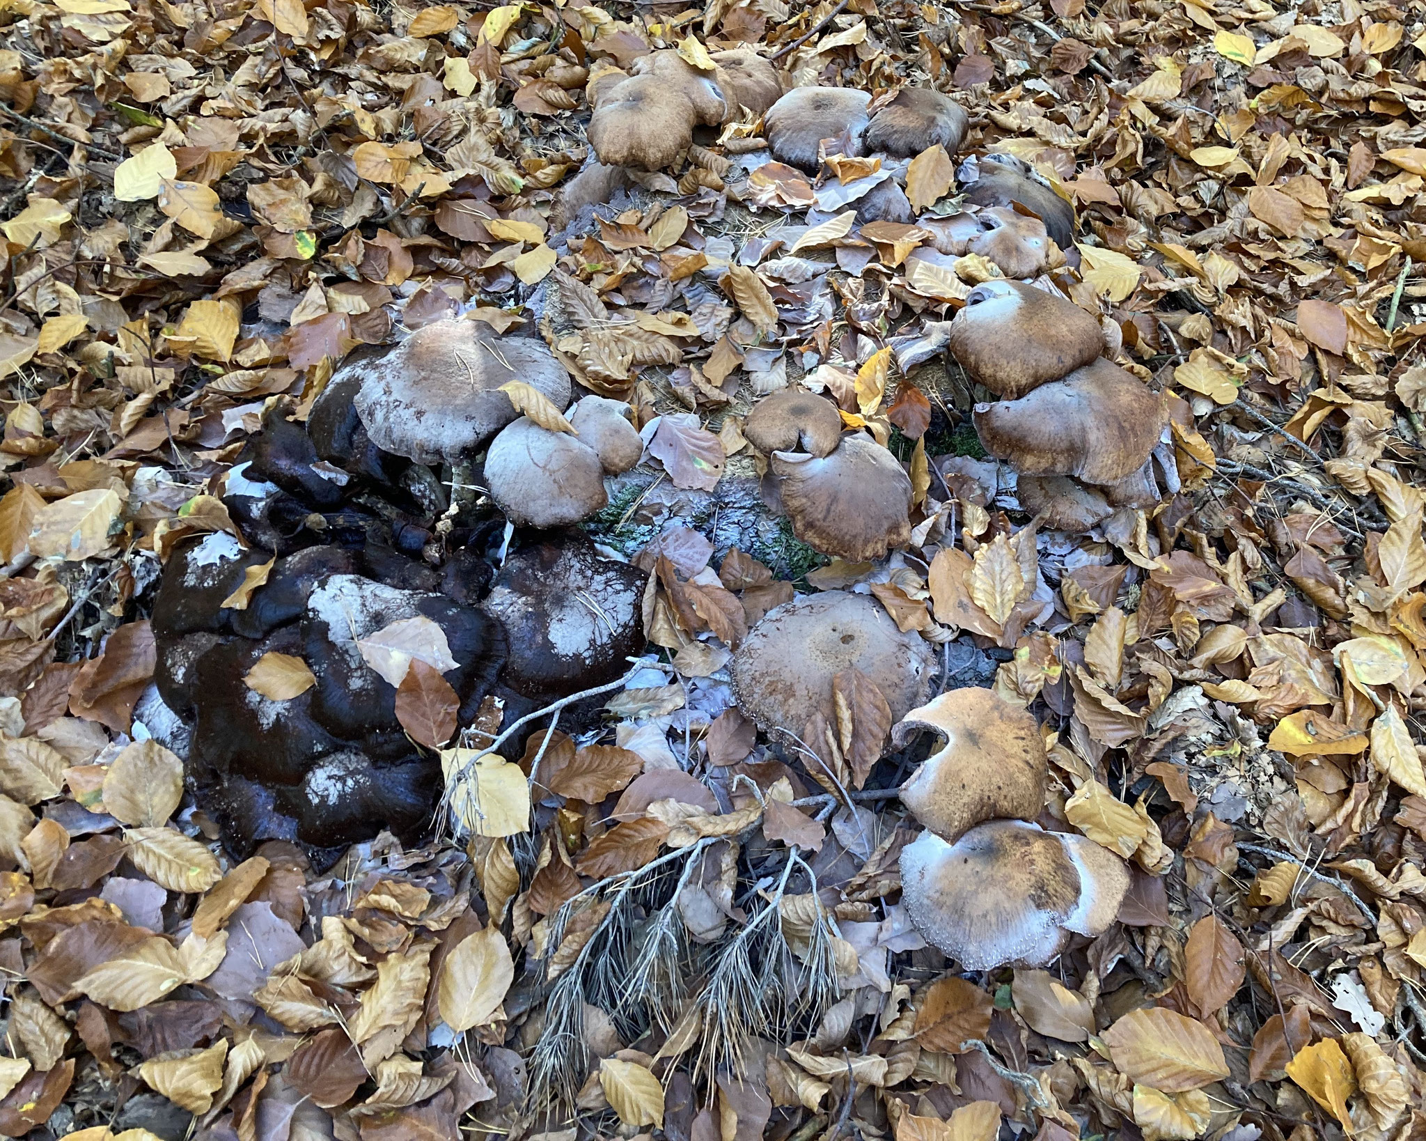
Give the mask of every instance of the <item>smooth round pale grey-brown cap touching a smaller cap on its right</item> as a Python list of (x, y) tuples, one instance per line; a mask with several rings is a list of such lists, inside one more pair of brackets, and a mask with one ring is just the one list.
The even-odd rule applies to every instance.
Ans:
[(599, 452), (520, 416), (491, 444), (485, 486), (513, 523), (566, 526), (609, 502)]

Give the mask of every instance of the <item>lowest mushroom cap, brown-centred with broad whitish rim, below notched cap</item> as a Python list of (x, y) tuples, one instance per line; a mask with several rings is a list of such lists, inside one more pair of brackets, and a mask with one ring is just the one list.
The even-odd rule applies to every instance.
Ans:
[(988, 820), (954, 844), (923, 832), (901, 849), (911, 923), (965, 970), (1042, 967), (1064, 950), (1078, 899), (1060, 837), (1024, 820)]

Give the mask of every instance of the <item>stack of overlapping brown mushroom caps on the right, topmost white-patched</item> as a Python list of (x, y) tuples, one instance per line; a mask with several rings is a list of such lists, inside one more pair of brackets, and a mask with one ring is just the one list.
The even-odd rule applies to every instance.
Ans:
[[(1067, 298), (1018, 281), (971, 290), (947, 329), (973, 379), (1004, 399), (978, 404), (985, 451), (1018, 474), (1021, 506), (1061, 531), (1158, 502), (1151, 454), (1168, 426), (1162, 395), (1101, 357), (1098, 322)], [(1172, 462), (1164, 466), (1174, 489)]]

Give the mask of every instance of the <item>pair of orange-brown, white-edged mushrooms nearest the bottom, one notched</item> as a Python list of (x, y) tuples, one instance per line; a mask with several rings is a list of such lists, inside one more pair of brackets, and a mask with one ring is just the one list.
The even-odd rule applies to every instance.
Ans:
[(917, 930), (965, 970), (1044, 966), (1072, 934), (1102, 934), (1128, 866), (1092, 840), (1034, 823), (1048, 759), (1035, 719), (988, 689), (950, 690), (893, 730), (945, 740), (901, 786), (925, 827), (901, 850), (901, 897)]

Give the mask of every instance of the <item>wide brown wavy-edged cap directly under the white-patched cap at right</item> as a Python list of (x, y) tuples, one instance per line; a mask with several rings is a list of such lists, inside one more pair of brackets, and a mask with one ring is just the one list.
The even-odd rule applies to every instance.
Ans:
[(985, 451), (1022, 475), (1087, 483), (1132, 475), (1168, 424), (1164, 398), (1104, 358), (1018, 401), (978, 404), (973, 418)]

